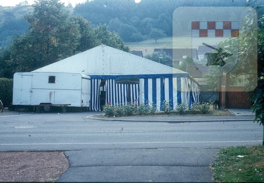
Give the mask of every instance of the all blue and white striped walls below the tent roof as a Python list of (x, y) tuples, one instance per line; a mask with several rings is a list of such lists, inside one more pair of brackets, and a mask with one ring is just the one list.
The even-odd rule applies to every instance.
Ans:
[[(138, 76), (140, 77), (140, 76)], [(144, 76), (142, 76), (144, 77)], [(92, 79), (91, 110), (100, 111), (100, 82)], [(128, 90), (130, 87), (130, 90)], [(177, 104), (199, 103), (199, 87), (188, 77), (141, 78), (139, 84), (118, 84), (115, 79), (106, 80), (106, 104), (126, 104), (127, 102), (154, 105), (162, 110), (162, 102), (170, 101), (173, 109)], [(128, 101), (130, 95), (130, 101)]]

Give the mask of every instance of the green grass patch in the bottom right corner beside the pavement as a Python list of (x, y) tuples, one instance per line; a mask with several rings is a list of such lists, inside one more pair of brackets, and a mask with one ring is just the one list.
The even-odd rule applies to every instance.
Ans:
[(264, 146), (223, 148), (211, 169), (217, 182), (264, 182)]

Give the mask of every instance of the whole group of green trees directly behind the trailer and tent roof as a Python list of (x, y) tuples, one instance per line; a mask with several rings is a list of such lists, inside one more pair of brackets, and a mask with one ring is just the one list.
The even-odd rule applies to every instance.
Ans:
[(0, 77), (12, 78), (15, 72), (29, 72), (101, 44), (129, 51), (107, 25), (93, 28), (83, 17), (70, 16), (59, 0), (39, 0), (33, 7), (25, 16), (28, 33), (15, 35), (0, 54)]

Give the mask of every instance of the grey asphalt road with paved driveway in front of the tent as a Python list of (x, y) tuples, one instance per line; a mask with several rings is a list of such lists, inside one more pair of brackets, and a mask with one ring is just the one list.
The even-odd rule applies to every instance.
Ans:
[(86, 118), (92, 114), (97, 113), (2, 113), (0, 151), (63, 150), (71, 166), (59, 181), (208, 182), (220, 148), (262, 143), (262, 127), (252, 121)]

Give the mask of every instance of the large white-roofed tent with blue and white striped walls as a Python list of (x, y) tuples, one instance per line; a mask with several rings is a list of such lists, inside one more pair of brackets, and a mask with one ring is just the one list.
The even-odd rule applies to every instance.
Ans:
[[(164, 100), (173, 109), (177, 104), (199, 102), (199, 87), (188, 73), (152, 60), (100, 45), (62, 59), (32, 72), (80, 73), (92, 78), (91, 110), (100, 110), (100, 91), (106, 91), (105, 104), (133, 102), (155, 105)], [(138, 82), (118, 83), (120, 78), (138, 78)], [(101, 85), (105, 81), (105, 86)], [(101, 86), (101, 87), (100, 87)]]

